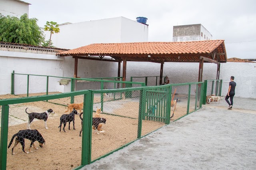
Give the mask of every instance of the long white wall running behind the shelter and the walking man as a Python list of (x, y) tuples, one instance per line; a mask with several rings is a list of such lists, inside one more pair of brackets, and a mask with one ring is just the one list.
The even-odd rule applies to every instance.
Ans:
[[(6, 54), (8, 52), (8, 54)], [(13, 57), (10, 57), (10, 56)], [(34, 57), (32, 57), (34, 56)], [(72, 57), (58, 58), (55, 55), (21, 53), (13, 51), (0, 51), (0, 95), (9, 94), (11, 73), (53, 75), (60, 77), (74, 76), (74, 59)], [(199, 63), (164, 63), (163, 75), (168, 75), (171, 83), (187, 83), (198, 81)], [(108, 61), (94, 61), (78, 59), (78, 76), (91, 77), (116, 77), (118, 63)], [(216, 79), (217, 65), (204, 63), (203, 80)], [(136, 76), (159, 76), (160, 63), (127, 62), (127, 81)], [(230, 76), (235, 77), (236, 97), (256, 99), (256, 63), (221, 63), (220, 79), (222, 83), (222, 96), (228, 91)], [(122, 64), (121, 64), (122, 76)], [(27, 77), (15, 75), (15, 93), (26, 93)], [(149, 85), (155, 84), (155, 79), (148, 79)], [(49, 78), (49, 92), (70, 91), (68, 85), (59, 85), (59, 78)], [(140, 81), (144, 81), (141, 79)], [(159, 81), (159, 80), (158, 80)], [(46, 91), (46, 78), (30, 76), (30, 93)]]

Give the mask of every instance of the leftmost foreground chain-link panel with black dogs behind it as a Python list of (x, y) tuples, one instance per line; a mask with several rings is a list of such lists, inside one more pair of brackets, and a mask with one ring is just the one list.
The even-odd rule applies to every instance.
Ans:
[(70, 96), (55, 98), (25, 103), (23, 98), (9, 105), (7, 169), (61, 170), (81, 165), (79, 113), (84, 105), (66, 107), (54, 103), (66, 104)]

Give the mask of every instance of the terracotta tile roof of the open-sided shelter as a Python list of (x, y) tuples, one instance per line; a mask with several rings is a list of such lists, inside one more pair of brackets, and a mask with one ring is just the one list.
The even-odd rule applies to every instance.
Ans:
[[(58, 53), (60, 56), (104, 55), (115, 59), (121, 57), (146, 58), (162, 61), (195, 61), (198, 56), (204, 56), (217, 61), (210, 53), (216, 49), (220, 53), (220, 61), (226, 62), (224, 40), (192, 41), (192, 42), (136, 42), (136, 43), (97, 43)], [(180, 56), (180, 57), (178, 57)], [(176, 57), (176, 59), (174, 59)], [(177, 58), (178, 57), (178, 58)], [(190, 58), (188, 58), (190, 57)], [(192, 58), (191, 58), (192, 57)]]

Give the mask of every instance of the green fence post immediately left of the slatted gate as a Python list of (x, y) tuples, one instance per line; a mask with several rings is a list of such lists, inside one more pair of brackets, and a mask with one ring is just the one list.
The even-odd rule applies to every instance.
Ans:
[(141, 129), (142, 129), (142, 118), (145, 117), (145, 90), (142, 89), (140, 91), (140, 104), (139, 104), (139, 117), (138, 117), (138, 134), (137, 138), (141, 137)]

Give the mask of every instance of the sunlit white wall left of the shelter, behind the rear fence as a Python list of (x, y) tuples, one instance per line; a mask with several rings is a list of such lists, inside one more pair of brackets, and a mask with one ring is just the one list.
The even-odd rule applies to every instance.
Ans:
[[(63, 77), (63, 59), (56, 55), (0, 51), (0, 95), (11, 93), (11, 73)], [(27, 91), (27, 76), (15, 75), (15, 94)], [(59, 78), (49, 78), (49, 92), (59, 91)], [(30, 93), (46, 92), (46, 77), (30, 76)]]

